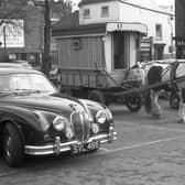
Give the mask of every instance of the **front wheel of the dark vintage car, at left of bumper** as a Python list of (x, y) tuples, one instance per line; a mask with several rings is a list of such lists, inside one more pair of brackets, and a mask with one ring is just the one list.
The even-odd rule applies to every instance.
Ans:
[(12, 167), (20, 166), (24, 159), (20, 134), (12, 123), (6, 124), (3, 130), (3, 156)]

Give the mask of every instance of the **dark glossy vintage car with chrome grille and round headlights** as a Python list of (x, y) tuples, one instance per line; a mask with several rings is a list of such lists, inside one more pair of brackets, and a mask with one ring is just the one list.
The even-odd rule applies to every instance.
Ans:
[(97, 151), (116, 137), (106, 106), (59, 94), (41, 72), (0, 67), (0, 149), (8, 165), (26, 154)]

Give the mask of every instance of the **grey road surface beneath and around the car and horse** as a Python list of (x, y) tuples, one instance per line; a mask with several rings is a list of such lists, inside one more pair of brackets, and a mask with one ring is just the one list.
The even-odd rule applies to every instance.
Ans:
[(161, 104), (160, 120), (111, 106), (118, 140), (98, 152), (29, 157), (21, 168), (0, 159), (0, 185), (184, 185), (185, 124)]

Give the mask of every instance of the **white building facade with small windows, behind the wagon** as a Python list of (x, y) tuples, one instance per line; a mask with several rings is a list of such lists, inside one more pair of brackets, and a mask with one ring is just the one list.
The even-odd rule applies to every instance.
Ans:
[[(153, 0), (81, 0), (79, 23), (141, 22), (148, 26), (151, 59), (173, 55), (174, 14)], [(149, 50), (149, 48), (148, 48)]]

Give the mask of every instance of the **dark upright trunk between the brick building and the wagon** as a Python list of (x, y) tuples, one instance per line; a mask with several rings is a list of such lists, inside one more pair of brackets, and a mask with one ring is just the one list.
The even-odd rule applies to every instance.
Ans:
[(50, 2), (48, 0), (44, 1), (44, 53), (42, 61), (42, 70), (48, 76), (51, 70), (51, 19), (50, 19)]

